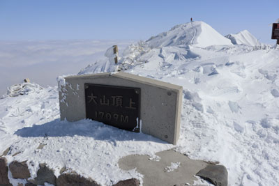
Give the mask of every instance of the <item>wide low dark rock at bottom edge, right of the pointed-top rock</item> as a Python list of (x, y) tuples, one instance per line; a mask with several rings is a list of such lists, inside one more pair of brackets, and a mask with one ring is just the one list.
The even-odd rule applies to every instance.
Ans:
[(75, 186), (75, 185), (82, 185), (82, 186), (100, 186), (96, 181), (91, 180), (90, 178), (84, 178), (76, 173), (64, 173), (61, 174), (56, 179), (57, 186)]

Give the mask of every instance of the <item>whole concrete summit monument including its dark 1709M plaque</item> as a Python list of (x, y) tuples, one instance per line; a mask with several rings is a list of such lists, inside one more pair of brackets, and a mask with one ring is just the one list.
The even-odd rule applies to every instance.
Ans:
[(126, 72), (68, 76), (59, 81), (61, 120), (90, 118), (176, 144), (182, 89)]

